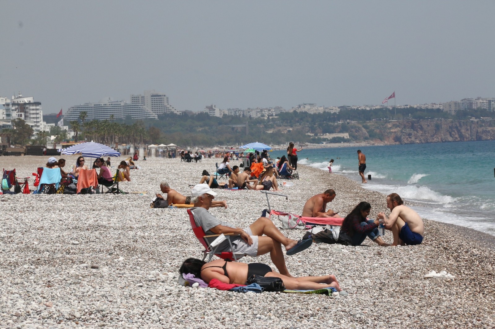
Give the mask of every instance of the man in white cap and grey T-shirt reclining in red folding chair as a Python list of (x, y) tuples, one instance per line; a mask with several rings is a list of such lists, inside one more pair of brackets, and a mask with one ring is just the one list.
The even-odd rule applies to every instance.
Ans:
[[(196, 225), (201, 226), (206, 235), (234, 233), (231, 239), (234, 252), (244, 253), (251, 257), (270, 253), (273, 264), (280, 274), (292, 277), (285, 265), (284, 254), (281, 245), (285, 246), (287, 255), (293, 255), (302, 251), (313, 243), (311, 239), (293, 240), (285, 237), (273, 222), (266, 217), (259, 217), (254, 223), (245, 229), (241, 229), (229, 222), (222, 222), (215, 218), (208, 209), (214, 202), (216, 193), (207, 184), (198, 184), (193, 188), (191, 211)], [(228, 241), (222, 242), (218, 251), (230, 251)]]

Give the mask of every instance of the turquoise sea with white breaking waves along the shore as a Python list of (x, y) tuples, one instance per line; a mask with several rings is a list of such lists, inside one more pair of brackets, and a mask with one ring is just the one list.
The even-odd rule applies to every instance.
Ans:
[[(333, 173), (361, 183), (358, 149), (366, 155), (366, 179), (371, 175), (363, 188), (395, 192), (423, 218), (495, 236), (495, 141), (303, 148), (297, 164), (328, 172), (334, 159)], [(270, 153), (283, 155), (285, 150)]]

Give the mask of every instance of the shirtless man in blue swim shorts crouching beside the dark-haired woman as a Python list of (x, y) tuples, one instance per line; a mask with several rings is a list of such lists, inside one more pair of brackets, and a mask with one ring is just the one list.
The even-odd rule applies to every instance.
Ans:
[(385, 213), (380, 212), (378, 219), (383, 219), (385, 228), (392, 231), (394, 235), (392, 246), (398, 244), (414, 246), (423, 242), (423, 220), (416, 211), (404, 206), (404, 202), (397, 193), (387, 196), (387, 207), (391, 210), (389, 218), (385, 216)]

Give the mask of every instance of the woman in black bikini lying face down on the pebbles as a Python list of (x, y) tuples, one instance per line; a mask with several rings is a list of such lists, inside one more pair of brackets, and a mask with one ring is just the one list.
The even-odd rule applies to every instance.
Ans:
[(337, 291), (342, 290), (335, 275), (293, 278), (277, 273), (270, 266), (262, 263), (246, 264), (227, 262), (223, 259), (215, 259), (206, 263), (196, 258), (188, 258), (182, 263), (179, 273), (191, 273), (206, 283), (209, 283), (212, 279), (218, 279), (225, 284), (245, 285), (247, 279), (256, 274), (264, 277), (280, 278), (284, 282), (285, 288), (292, 290), (312, 290), (328, 287), (336, 288)]

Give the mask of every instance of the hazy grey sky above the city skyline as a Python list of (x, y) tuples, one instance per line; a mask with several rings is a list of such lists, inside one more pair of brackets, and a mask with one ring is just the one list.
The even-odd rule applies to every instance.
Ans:
[(0, 96), (45, 114), (148, 89), (191, 111), (495, 97), (493, 0), (1, 3)]

